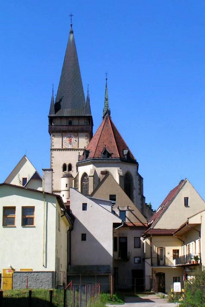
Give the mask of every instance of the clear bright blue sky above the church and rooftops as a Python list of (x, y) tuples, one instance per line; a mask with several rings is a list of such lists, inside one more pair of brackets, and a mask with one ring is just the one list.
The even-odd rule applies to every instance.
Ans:
[[(126, 3), (126, 4), (125, 4)], [(154, 208), (187, 177), (205, 199), (205, 2), (11, 1), (0, 4), (0, 182), (21, 157), (50, 167), (48, 112), (73, 16), (94, 132), (105, 72), (112, 119)]]

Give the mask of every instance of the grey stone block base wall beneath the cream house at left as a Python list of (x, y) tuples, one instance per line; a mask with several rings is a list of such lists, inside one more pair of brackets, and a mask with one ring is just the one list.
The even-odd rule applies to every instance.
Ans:
[(15, 272), (13, 289), (52, 289), (55, 288), (55, 272)]

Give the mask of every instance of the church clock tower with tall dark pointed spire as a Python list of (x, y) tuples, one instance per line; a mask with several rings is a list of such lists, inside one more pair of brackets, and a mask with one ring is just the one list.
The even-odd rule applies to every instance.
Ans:
[(72, 177), (76, 176), (78, 156), (83, 153), (93, 136), (90, 99), (87, 93), (85, 101), (72, 20), (56, 101), (54, 103), (52, 92), (48, 119), (53, 169), (52, 190), (59, 193), (61, 177), (67, 172)]

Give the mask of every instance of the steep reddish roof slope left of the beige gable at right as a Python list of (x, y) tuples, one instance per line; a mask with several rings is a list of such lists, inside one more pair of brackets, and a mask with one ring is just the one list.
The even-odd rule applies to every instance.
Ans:
[(186, 183), (187, 179), (181, 180), (180, 183), (173, 188), (169, 194), (166, 196), (166, 198), (163, 200), (157, 211), (150, 217), (148, 221), (148, 226), (153, 227), (154, 224), (156, 224), (157, 220), (162, 216), (164, 211), (168, 208), (168, 206), (171, 204), (172, 200), (176, 196), (176, 194), (179, 192), (180, 188)]

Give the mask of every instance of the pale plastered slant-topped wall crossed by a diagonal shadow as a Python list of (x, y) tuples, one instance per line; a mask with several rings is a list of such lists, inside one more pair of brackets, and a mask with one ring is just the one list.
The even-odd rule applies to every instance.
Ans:
[[(87, 203), (87, 210), (82, 204)], [(117, 216), (79, 193), (70, 189), (70, 208), (75, 216), (71, 232), (71, 265), (113, 264), (113, 223), (122, 223)], [(86, 234), (86, 241), (81, 240)]]

